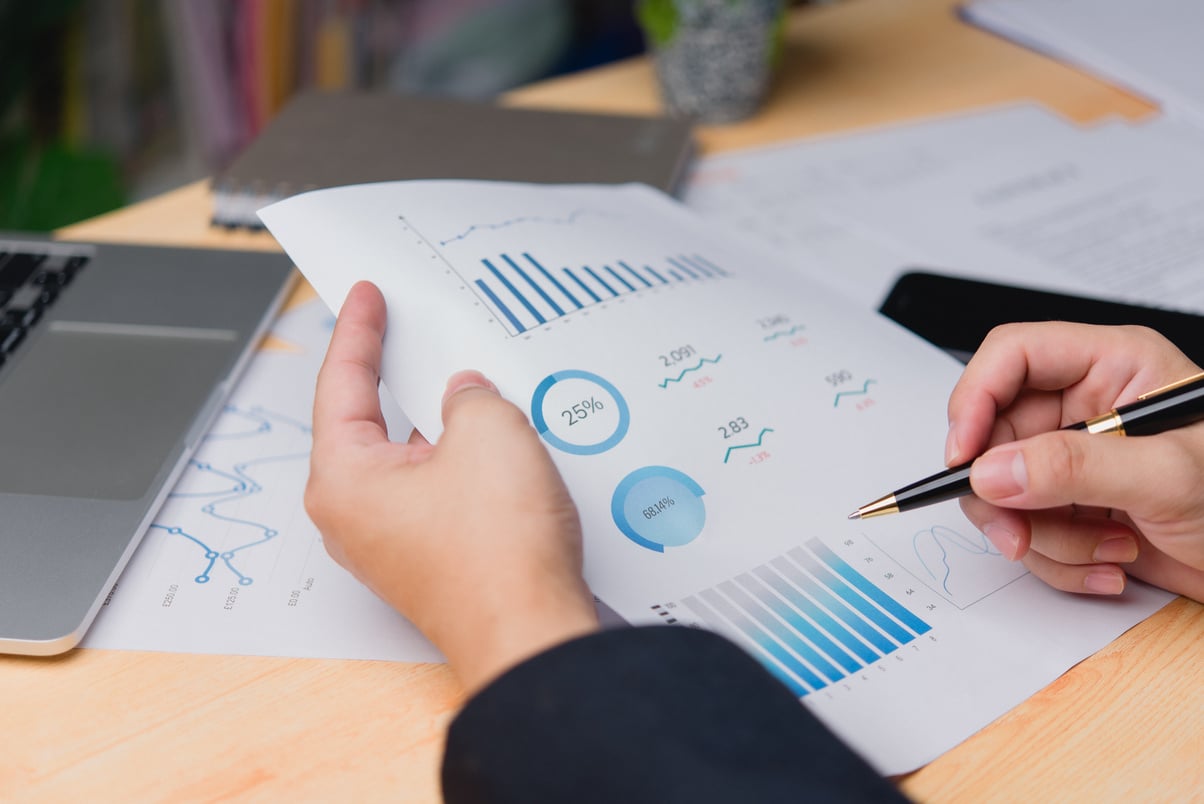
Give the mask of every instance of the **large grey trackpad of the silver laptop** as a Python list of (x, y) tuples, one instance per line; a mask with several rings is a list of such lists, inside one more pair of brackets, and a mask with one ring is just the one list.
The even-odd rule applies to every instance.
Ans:
[(102, 499), (147, 492), (236, 343), (220, 330), (130, 332), (51, 329), (30, 344), (0, 389), (0, 492)]

